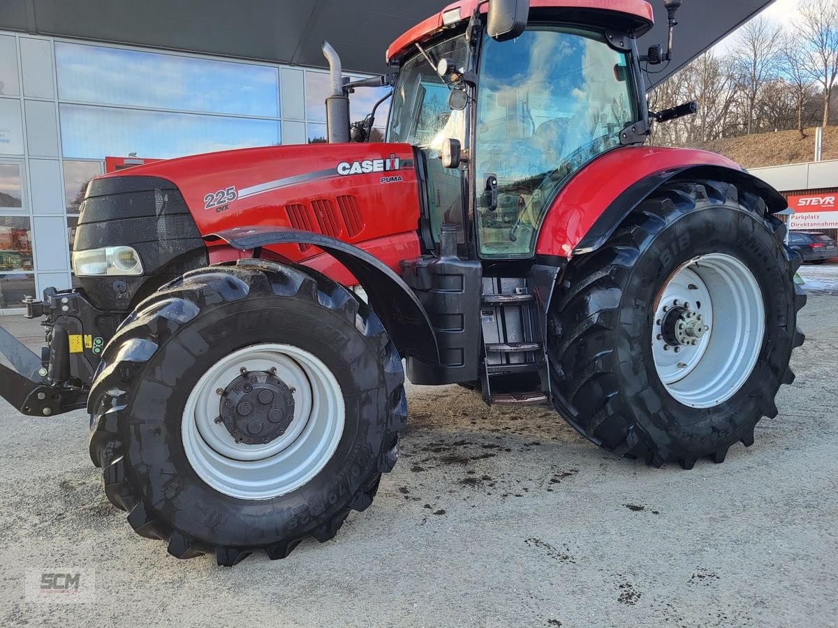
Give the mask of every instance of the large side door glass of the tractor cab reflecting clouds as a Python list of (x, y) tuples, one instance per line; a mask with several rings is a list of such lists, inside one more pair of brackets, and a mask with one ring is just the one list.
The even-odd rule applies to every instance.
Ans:
[(484, 39), (474, 163), (478, 190), (493, 175), (497, 208), (481, 197), (483, 257), (529, 257), (556, 190), (620, 144), (636, 121), (626, 54), (602, 33), (530, 25), (517, 39)]

